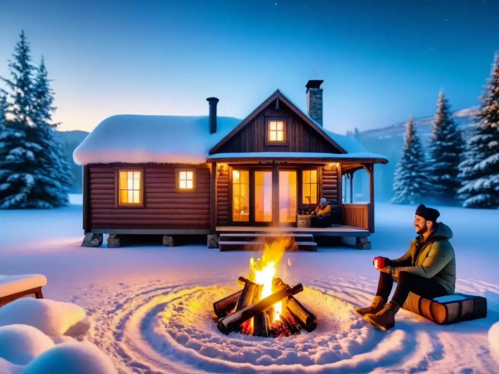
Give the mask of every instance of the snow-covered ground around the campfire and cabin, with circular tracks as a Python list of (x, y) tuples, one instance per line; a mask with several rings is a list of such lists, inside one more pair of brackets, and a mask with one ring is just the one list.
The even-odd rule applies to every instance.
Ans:
[[(81, 204), (80, 196), (71, 201)], [(91, 341), (120, 373), (499, 373), (499, 210), (441, 208), (454, 230), (457, 291), (484, 295), (485, 319), (438, 326), (409, 312), (388, 333), (353, 312), (371, 302), (372, 258), (404, 253), (413, 206), (376, 205), (371, 251), (286, 253), (279, 275), (318, 318), (310, 334), (254, 338), (217, 330), (212, 303), (237, 288), (253, 253), (206, 246), (82, 248), (81, 205), (0, 211), (0, 274), (42, 273), (44, 296), (82, 306)], [(290, 265), (290, 266), (289, 266)], [(493, 348), (495, 347), (495, 348)]]

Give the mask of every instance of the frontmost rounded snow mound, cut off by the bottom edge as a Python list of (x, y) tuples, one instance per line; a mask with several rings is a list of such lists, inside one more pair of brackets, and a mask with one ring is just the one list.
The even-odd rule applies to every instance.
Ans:
[(114, 374), (112, 361), (91, 343), (63, 343), (34, 359), (23, 374)]

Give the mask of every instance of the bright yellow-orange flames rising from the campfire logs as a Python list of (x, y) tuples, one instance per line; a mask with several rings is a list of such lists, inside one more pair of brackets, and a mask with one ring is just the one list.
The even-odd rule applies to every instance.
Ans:
[[(273, 278), (277, 274), (277, 266), (286, 247), (290, 243), (291, 239), (289, 237), (278, 238), (270, 244), (265, 243), (265, 249), (261, 258), (256, 259), (256, 261), (253, 257), (250, 258), (250, 276), (248, 279), (263, 285), (260, 300), (272, 294)], [(275, 312), (273, 321), (277, 321), (279, 320), (279, 315), (282, 313), (282, 302), (279, 301), (274, 304), (273, 308)], [(251, 329), (252, 325), (253, 321), (251, 319)]]

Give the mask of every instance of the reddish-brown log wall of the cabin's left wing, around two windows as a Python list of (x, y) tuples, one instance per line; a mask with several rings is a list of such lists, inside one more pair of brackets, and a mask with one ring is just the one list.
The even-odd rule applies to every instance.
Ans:
[[(142, 169), (143, 207), (116, 207), (116, 169)], [(195, 169), (195, 191), (176, 191), (176, 169)], [(179, 165), (89, 167), (90, 226), (94, 228), (210, 228), (210, 169)]]

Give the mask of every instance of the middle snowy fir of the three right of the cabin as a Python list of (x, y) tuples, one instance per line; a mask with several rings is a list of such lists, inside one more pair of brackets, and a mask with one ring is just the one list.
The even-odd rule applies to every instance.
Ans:
[(448, 205), (456, 203), (457, 191), (461, 187), (458, 167), (464, 147), (461, 130), (452, 118), (449, 102), (441, 91), (430, 141), (428, 172), (432, 199)]

